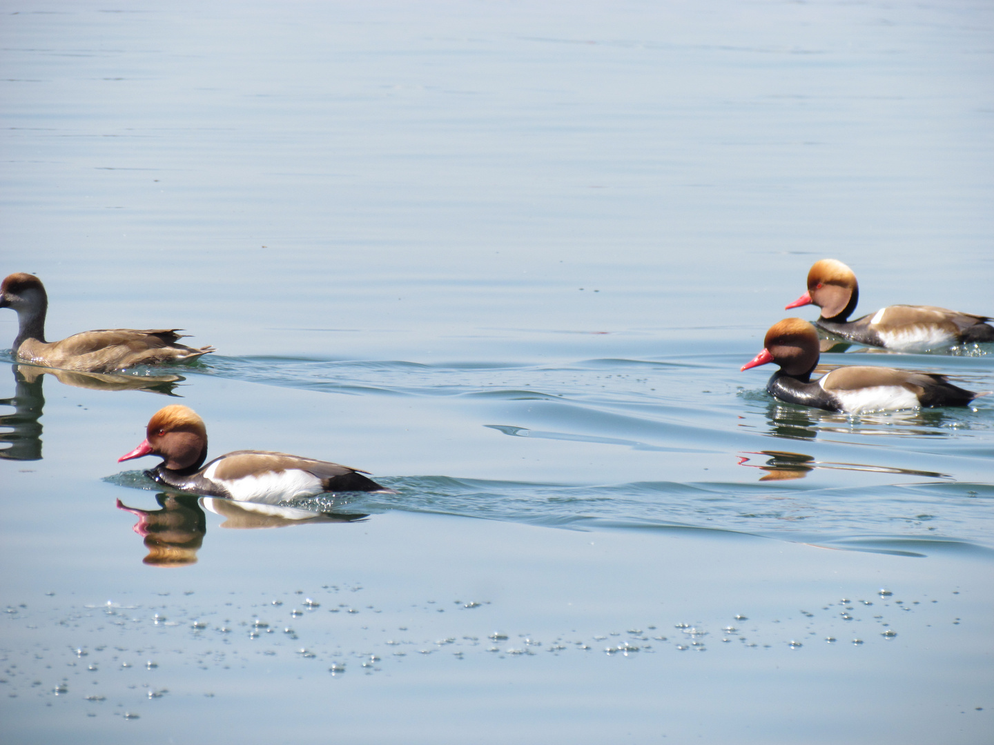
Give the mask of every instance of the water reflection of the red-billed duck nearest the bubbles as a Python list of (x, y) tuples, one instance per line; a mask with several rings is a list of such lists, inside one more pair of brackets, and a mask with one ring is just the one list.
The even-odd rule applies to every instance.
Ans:
[(176, 492), (155, 496), (161, 510), (139, 510), (117, 500), (117, 509), (138, 518), (132, 528), (148, 549), (142, 563), (149, 566), (188, 566), (197, 563), (197, 551), (207, 533), (204, 510), (226, 518), (221, 527), (286, 527), (304, 522), (356, 522), (368, 515), (313, 513), (290, 507), (239, 503)]

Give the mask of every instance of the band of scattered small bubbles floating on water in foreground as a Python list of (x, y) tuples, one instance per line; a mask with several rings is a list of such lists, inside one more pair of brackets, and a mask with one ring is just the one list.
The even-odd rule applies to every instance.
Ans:
[[(267, 667), (278, 664), (281, 671), (292, 669), (295, 674), (300, 674), (301, 665), (323, 662), (324, 666), (309, 672), (326, 671), (338, 678), (355, 674), (352, 671), (375, 674), (388, 666), (397, 674), (398, 666), (410, 668), (418, 665), (415, 660), (444, 653), (456, 662), (475, 659), (477, 665), (486, 665), (487, 659), (540, 655), (552, 659), (578, 653), (648, 659), (666, 651), (692, 654), (730, 647), (783, 649), (803, 655), (818, 642), (830, 648), (845, 643), (862, 648), (875, 640), (893, 642), (904, 633), (899, 629), (910, 624), (920, 635), (924, 620), (932, 622), (924, 624), (925, 628), (941, 625), (935, 622), (960, 623), (958, 617), (938, 610), (938, 599), (906, 601), (881, 589), (876, 596), (843, 596), (782, 618), (758, 621), (744, 613), (729, 613), (725, 620), (711, 622), (657, 622), (585, 634), (571, 630), (540, 638), (533, 633), (494, 630), (501, 612), (485, 600), (425, 600), (384, 609), (356, 600), (330, 602), (342, 599), (334, 596), (343, 588), (325, 585), (322, 589), (330, 600), (321, 602), (303, 591), (293, 593), (292, 603), (271, 596), (252, 601), (232, 593), (231, 601), (220, 610), (206, 612), (190, 607), (193, 599), (163, 602), (168, 593), (149, 603), (108, 601), (68, 608), (9, 605), (3, 614), (0, 691), (9, 698), (33, 695), (48, 703), (75, 696), (84, 702), (87, 716), (97, 715), (112, 701), (116, 714), (137, 718), (140, 700), (147, 704), (166, 699), (171, 690), (213, 696), (209, 686), (224, 686), (227, 675), (241, 675), (260, 661), (266, 661)], [(359, 593), (363, 588), (344, 589)], [(915, 611), (922, 608), (932, 610), (915, 621)], [(453, 612), (466, 615), (452, 619)], [(228, 617), (212, 618), (224, 615)], [(399, 618), (407, 620), (397, 625), (394, 622)], [(30, 643), (33, 632), (46, 626), (49, 642)], [(437, 633), (439, 629), (444, 630), (442, 634)], [(452, 633), (455, 629), (459, 631)], [(83, 644), (92, 634), (98, 634), (101, 643)]]

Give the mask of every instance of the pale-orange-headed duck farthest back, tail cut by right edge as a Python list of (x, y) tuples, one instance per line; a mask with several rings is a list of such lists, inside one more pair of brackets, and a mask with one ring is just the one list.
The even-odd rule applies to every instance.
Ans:
[(897, 352), (925, 352), (963, 343), (994, 342), (987, 316), (933, 305), (889, 305), (854, 321), (860, 288), (856, 274), (834, 258), (815, 261), (808, 271), (807, 292), (784, 309), (817, 305), (815, 326), (859, 344)]

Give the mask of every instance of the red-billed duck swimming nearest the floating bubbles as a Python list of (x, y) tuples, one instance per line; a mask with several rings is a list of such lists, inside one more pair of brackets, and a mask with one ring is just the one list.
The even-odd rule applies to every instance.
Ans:
[(368, 472), (338, 463), (268, 450), (236, 450), (206, 466), (207, 427), (189, 406), (173, 404), (148, 420), (146, 437), (118, 463), (157, 455), (160, 463), (145, 475), (153, 481), (202, 497), (278, 505), (325, 492), (397, 494), (368, 479)]

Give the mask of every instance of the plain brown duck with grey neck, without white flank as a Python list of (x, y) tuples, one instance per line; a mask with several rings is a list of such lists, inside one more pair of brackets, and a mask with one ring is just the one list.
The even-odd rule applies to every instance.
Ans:
[(14, 355), (46, 368), (80, 373), (114, 373), (136, 365), (187, 364), (214, 352), (177, 342), (182, 329), (98, 329), (84, 331), (61, 342), (45, 341), (45, 315), (49, 297), (42, 280), (16, 272), (0, 284), (0, 308), (17, 311), (18, 334)]

